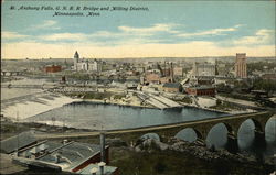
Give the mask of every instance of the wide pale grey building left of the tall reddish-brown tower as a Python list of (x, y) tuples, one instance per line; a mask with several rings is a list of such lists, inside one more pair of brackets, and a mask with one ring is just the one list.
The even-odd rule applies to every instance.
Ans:
[(193, 76), (215, 76), (215, 64), (211, 63), (197, 63), (194, 62), (192, 68)]

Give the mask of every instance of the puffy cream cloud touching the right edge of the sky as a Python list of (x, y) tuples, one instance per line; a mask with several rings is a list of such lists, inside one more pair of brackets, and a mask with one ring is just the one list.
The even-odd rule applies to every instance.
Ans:
[(267, 44), (275, 40), (275, 31), (261, 29), (253, 36), (244, 36), (238, 40), (234, 40), (233, 44), (236, 45), (253, 45), (253, 44)]

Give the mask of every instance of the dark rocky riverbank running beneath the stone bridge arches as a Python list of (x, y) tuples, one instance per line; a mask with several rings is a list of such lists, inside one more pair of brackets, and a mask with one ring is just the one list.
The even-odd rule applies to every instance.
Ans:
[(267, 172), (275, 171), (276, 157), (266, 157), (259, 161), (256, 156), (244, 153), (230, 153), (225, 149), (215, 150), (215, 147), (208, 149), (205, 144), (200, 142), (187, 142), (174, 139), (170, 144), (162, 143), (155, 139), (147, 139), (134, 146), (135, 152), (153, 152), (153, 151), (174, 151), (192, 155), (197, 158), (206, 162), (227, 162), (243, 165), (262, 166)]

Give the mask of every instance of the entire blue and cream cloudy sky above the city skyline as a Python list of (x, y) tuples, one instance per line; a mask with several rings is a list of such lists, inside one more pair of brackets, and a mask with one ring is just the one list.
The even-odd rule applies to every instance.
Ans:
[(1, 13), (2, 58), (275, 56), (275, 1), (4, 0)]

